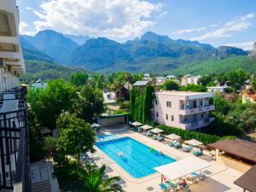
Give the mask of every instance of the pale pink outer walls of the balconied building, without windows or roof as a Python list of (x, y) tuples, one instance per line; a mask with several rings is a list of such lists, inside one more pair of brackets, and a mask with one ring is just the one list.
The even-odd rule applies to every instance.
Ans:
[[(180, 127), (184, 130), (193, 130), (209, 125), (213, 119), (209, 117), (209, 111), (214, 109), (213, 105), (199, 108), (199, 100), (206, 99), (211, 94), (201, 94), (194, 96), (176, 96), (156, 93), (156, 102), (152, 118), (161, 125)], [(196, 108), (181, 108), (181, 101), (196, 101)], [(171, 107), (167, 107), (167, 102), (171, 102)], [(185, 105), (186, 106), (186, 105)]]

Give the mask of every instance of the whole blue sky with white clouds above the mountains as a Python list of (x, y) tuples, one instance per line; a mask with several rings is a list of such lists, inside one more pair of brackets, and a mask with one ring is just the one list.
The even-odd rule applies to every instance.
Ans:
[(20, 33), (53, 29), (124, 42), (152, 31), (251, 49), (255, 0), (18, 0)]

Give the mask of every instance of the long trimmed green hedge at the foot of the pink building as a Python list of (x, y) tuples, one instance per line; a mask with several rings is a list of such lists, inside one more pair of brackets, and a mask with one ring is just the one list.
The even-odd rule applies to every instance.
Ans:
[(184, 140), (196, 139), (204, 144), (215, 143), (215, 142), (218, 142), (218, 140), (222, 140), (222, 139), (236, 138), (236, 137), (218, 137), (215, 135), (208, 135), (208, 134), (196, 132), (196, 131), (184, 131), (182, 129), (166, 126), (166, 125), (158, 125), (158, 127), (161, 130), (165, 131), (166, 134), (174, 133), (182, 137)]

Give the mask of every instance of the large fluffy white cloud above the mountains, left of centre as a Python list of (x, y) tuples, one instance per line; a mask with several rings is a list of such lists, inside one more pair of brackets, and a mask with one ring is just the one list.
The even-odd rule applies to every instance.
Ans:
[(131, 38), (154, 26), (153, 14), (162, 6), (144, 0), (48, 0), (34, 11), (34, 25), (37, 31)]

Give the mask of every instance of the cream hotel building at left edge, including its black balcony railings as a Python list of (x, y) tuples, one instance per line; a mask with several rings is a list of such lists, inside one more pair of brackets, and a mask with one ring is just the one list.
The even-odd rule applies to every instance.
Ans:
[(0, 191), (30, 192), (25, 65), (15, 0), (0, 0)]

